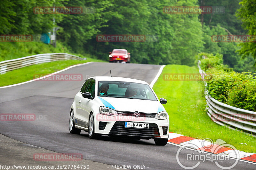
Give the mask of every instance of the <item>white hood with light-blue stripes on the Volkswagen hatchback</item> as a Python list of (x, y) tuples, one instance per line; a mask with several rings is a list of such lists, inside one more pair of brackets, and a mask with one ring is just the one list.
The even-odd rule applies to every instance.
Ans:
[(106, 106), (117, 111), (159, 113), (165, 110), (159, 101), (99, 96), (98, 98), (103, 103), (102, 106)]

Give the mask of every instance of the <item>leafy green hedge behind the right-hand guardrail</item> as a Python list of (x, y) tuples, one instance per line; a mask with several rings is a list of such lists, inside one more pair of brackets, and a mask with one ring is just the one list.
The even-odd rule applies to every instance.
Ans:
[(228, 105), (256, 111), (256, 73), (236, 73), (223, 65), (221, 54), (200, 53), (201, 68), (206, 72), (206, 89), (209, 95), (216, 100)]

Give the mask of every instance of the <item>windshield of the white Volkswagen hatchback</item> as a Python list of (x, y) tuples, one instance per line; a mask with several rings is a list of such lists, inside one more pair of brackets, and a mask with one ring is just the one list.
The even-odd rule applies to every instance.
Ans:
[(157, 101), (149, 85), (124, 81), (99, 81), (98, 96)]

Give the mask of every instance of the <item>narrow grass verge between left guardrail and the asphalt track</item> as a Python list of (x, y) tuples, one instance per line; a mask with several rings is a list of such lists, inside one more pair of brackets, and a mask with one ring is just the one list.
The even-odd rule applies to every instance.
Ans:
[(0, 87), (11, 84), (21, 83), (24, 81), (34, 79), (34, 74), (51, 74), (56, 71), (62, 70), (66, 67), (86, 63), (89, 61), (102, 62), (102, 60), (96, 60), (87, 58), (87, 60), (65, 60), (65, 61), (54, 61), (49, 63), (36, 64), (33, 66), (23, 67), (17, 70), (0, 74)]

